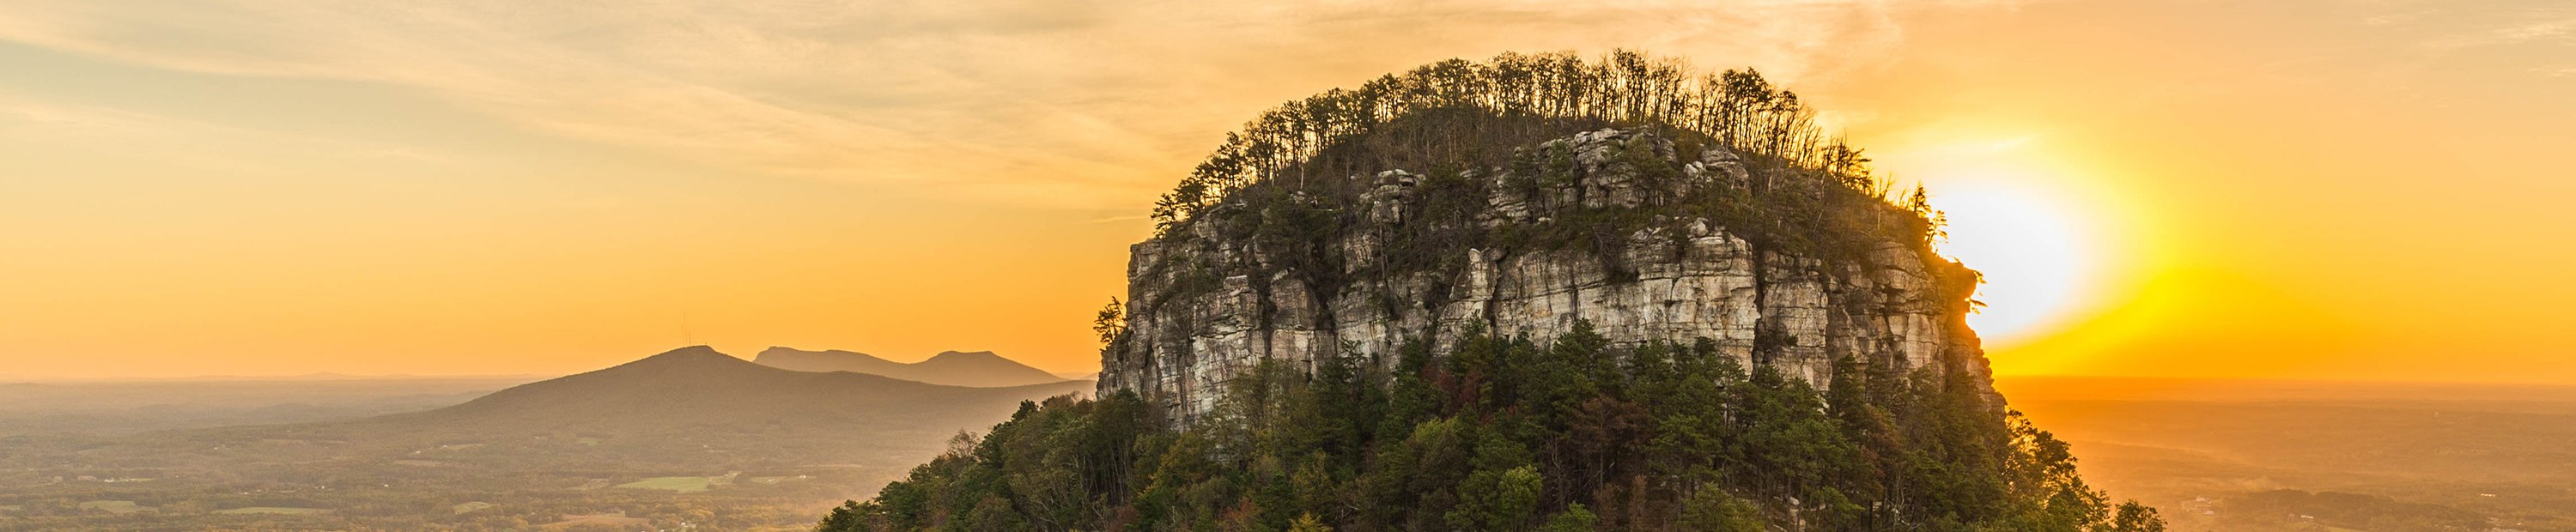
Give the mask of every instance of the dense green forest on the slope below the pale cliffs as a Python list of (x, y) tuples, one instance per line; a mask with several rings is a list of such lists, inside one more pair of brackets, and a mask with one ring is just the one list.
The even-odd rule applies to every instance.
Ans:
[(1265, 362), (1185, 429), (1023, 403), (819, 529), (2164, 529), (1968, 378), (1842, 357), (1819, 393), (1705, 339), (1473, 332)]

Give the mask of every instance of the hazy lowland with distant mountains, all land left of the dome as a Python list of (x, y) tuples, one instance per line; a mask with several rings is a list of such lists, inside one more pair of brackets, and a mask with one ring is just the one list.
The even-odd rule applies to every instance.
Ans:
[[(958, 368), (987, 368), (974, 355)], [(443, 409), (0, 437), (0, 529), (778, 529), (1087, 380), (971, 388), (683, 347)], [(307, 416), (309, 419), (309, 416)], [(131, 501), (152, 519), (80, 511)], [(237, 514), (247, 509), (252, 514)], [(260, 514), (296, 511), (296, 514)]]

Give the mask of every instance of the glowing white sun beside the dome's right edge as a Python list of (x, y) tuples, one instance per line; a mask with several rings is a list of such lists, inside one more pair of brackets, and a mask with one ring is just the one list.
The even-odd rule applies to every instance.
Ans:
[(2017, 344), (2063, 329), (2099, 296), (2099, 226), (2071, 200), (2022, 182), (1968, 180), (1932, 188), (1950, 216), (1940, 254), (1986, 272), (1968, 316), (1989, 344)]

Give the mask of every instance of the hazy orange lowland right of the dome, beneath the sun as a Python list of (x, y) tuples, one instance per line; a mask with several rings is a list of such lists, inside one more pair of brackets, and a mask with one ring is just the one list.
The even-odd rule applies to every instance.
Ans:
[(2576, 529), (2576, 388), (2002, 378), (2184, 532)]

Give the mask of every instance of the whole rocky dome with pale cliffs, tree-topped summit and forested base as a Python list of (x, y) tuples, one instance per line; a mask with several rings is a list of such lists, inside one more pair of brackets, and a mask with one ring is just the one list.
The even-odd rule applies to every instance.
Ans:
[(1927, 193), (1757, 72), (1450, 59), (1224, 139), (1100, 398), (819, 529), (2164, 529), (2004, 409)]

